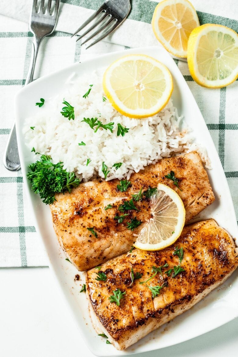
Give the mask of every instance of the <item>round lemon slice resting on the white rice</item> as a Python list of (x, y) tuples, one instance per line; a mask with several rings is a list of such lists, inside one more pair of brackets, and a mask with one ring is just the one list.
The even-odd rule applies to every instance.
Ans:
[(128, 55), (103, 75), (103, 90), (113, 107), (131, 118), (155, 115), (173, 91), (172, 76), (161, 62), (146, 55)]

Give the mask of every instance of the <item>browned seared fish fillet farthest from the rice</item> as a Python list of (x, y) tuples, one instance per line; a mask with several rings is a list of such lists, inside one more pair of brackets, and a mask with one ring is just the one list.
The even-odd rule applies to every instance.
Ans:
[[(173, 255), (183, 247), (181, 267), (176, 277), (165, 274), (179, 265)], [(98, 270), (87, 272), (86, 286), (90, 315), (97, 333), (105, 333), (118, 350), (123, 350), (164, 323), (199, 302), (214, 288), (222, 284), (238, 266), (238, 254), (232, 237), (210, 219), (185, 226), (176, 243), (162, 251), (146, 252), (134, 249), (107, 261), (99, 272), (105, 272), (106, 281), (97, 281)], [(162, 268), (147, 285), (139, 282), (152, 276), (153, 266)], [(142, 277), (131, 284), (133, 268)], [(152, 298), (149, 287), (162, 286), (158, 296)], [(120, 306), (108, 299), (113, 290), (126, 292)]]

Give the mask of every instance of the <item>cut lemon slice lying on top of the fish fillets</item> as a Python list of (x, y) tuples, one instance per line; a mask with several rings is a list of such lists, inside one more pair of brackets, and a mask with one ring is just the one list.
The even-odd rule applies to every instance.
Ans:
[(144, 223), (134, 243), (147, 251), (161, 250), (173, 244), (185, 223), (183, 202), (172, 188), (159, 183), (150, 200), (152, 218)]

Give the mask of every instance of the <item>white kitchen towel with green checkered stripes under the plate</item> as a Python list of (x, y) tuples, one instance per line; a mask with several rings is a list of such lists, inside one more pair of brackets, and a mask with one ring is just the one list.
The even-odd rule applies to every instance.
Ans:
[[(201, 24), (214, 23), (238, 31), (237, 0), (191, 0)], [(92, 14), (103, 0), (61, 0), (56, 32), (45, 38), (37, 58), (34, 78), (60, 70), (76, 61), (128, 47), (158, 44), (151, 30), (156, 1), (131, 0), (132, 11), (106, 41), (87, 51), (69, 33)], [(0, 157), (14, 120), (14, 96), (24, 85), (31, 55), (28, 30), (32, 0), (0, 1)], [(186, 62), (175, 60), (186, 79), (217, 147), (238, 216), (238, 82), (209, 90), (198, 86)], [(0, 266), (45, 266), (42, 248), (24, 193), (21, 171), (10, 172), (0, 160)]]

